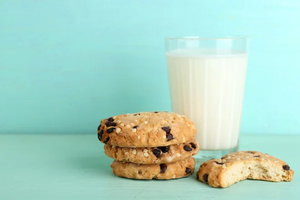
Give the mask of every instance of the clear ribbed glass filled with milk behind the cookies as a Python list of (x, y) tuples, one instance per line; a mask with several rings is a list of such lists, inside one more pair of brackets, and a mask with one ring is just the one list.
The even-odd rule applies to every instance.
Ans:
[(196, 125), (202, 162), (238, 150), (248, 37), (167, 37), (172, 111)]

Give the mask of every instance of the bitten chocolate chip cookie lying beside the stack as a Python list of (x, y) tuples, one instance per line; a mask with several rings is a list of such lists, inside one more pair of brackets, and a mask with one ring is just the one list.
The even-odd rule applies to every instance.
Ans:
[(293, 170), (282, 160), (258, 151), (239, 151), (202, 163), (199, 180), (213, 187), (227, 187), (246, 178), (290, 181)]

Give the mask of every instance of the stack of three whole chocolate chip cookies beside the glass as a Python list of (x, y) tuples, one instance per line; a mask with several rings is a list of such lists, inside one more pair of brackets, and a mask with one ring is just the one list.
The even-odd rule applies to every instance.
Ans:
[(171, 179), (189, 176), (192, 155), (199, 150), (196, 128), (183, 115), (140, 112), (102, 119), (98, 139), (114, 159), (113, 173), (136, 179)]

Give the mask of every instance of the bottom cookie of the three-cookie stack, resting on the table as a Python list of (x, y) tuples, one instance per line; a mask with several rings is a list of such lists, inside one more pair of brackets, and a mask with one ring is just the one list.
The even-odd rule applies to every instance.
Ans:
[(135, 179), (172, 179), (189, 176), (195, 169), (193, 157), (164, 164), (135, 164), (114, 160), (110, 164), (117, 176)]

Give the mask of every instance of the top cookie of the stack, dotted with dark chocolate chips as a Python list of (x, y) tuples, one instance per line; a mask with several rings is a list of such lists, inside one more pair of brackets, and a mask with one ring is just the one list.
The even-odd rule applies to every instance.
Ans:
[(196, 132), (184, 115), (169, 112), (140, 112), (102, 119), (98, 139), (108, 145), (155, 147), (183, 143)]

